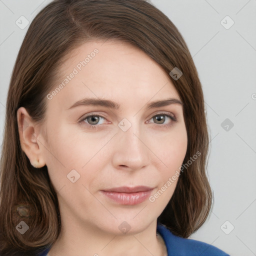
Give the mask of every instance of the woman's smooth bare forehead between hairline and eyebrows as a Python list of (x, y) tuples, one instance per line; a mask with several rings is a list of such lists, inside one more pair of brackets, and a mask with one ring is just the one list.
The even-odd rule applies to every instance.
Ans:
[(52, 90), (61, 89), (52, 101), (66, 107), (92, 96), (121, 105), (129, 99), (133, 103), (166, 96), (179, 99), (170, 76), (158, 63), (134, 45), (117, 40), (81, 44), (63, 58), (56, 77)]

